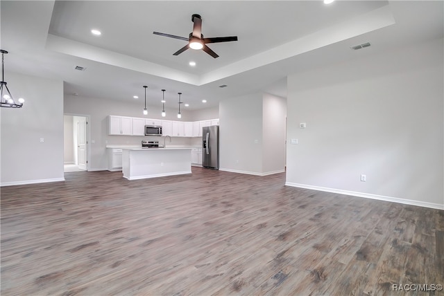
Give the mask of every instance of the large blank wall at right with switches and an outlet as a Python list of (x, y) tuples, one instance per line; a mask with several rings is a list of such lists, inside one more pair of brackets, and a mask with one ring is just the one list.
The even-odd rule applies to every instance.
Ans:
[(287, 185), (444, 208), (443, 39), (287, 85)]

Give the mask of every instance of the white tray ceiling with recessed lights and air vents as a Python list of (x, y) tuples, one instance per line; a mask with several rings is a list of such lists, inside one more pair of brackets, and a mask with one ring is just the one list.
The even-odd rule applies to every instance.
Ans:
[[(204, 37), (239, 41), (209, 44), (217, 59), (173, 56), (186, 41), (153, 31), (187, 37), (194, 13)], [(180, 91), (189, 109), (246, 93), (285, 97), (289, 73), (442, 36), (443, 1), (1, 1), (6, 81), (15, 71), (62, 79), (66, 95), (124, 101), (142, 101), (148, 85), (148, 104), (160, 106), (167, 89), (167, 104)], [(364, 42), (372, 46), (350, 50)]]

